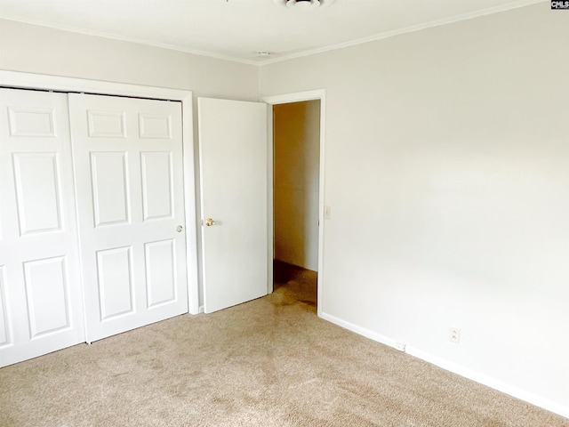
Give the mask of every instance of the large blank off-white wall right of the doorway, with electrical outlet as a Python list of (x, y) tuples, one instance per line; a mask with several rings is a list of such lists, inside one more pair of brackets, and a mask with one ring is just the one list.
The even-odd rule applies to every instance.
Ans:
[(323, 317), (569, 416), (566, 40), (536, 4), (263, 66), (260, 92), (326, 90)]

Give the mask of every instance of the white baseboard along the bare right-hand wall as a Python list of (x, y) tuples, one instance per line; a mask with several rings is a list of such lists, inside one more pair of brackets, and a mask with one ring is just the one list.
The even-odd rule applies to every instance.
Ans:
[[(348, 329), (349, 331), (352, 331), (356, 334), (363, 335), (366, 338), (369, 338), (373, 341), (381, 342), (382, 344), (389, 345), (389, 347), (393, 348), (395, 348), (396, 346), (397, 340), (391, 339), (382, 334), (377, 334), (369, 329), (366, 329), (365, 327), (357, 326), (353, 323), (350, 323), (341, 318), (336, 318), (335, 316), (325, 312), (321, 312), (320, 317), (324, 318), (325, 320), (328, 320), (329, 322), (332, 322), (335, 325)], [(437, 367), (442, 367), (443, 369), (450, 371), (453, 374), (461, 375), (465, 378), (468, 378), (469, 380), (490, 387), (491, 389), (501, 391), (502, 393), (506, 393), (509, 396), (512, 396), (516, 399), (524, 400), (525, 402), (535, 405), (536, 407), (541, 407), (557, 415), (569, 418), (569, 407), (565, 405), (562, 405), (557, 402), (552, 402), (549, 399), (543, 399), (541, 398), (541, 396), (533, 394), (529, 391), (525, 391), (508, 383), (503, 383), (499, 380), (496, 380), (492, 376), (481, 374), (467, 367), (462, 367), (461, 365), (458, 365), (446, 359), (439, 358), (426, 351), (416, 349), (414, 347), (407, 346), (405, 352), (415, 358), (429, 362)]]

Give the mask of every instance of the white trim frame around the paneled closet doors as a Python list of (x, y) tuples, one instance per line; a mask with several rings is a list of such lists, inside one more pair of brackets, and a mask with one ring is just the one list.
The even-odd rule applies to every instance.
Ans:
[(56, 92), (93, 93), (164, 101), (181, 101), (184, 168), (184, 208), (186, 220), (186, 263), (188, 272), (188, 312), (199, 312), (197, 276), (196, 163), (192, 91), (157, 86), (129, 85), (75, 77), (48, 76), (0, 69), (0, 86)]

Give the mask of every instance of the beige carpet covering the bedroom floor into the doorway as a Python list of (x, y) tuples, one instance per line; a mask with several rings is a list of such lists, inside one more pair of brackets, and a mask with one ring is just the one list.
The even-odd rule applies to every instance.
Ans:
[(317, 318), (314, 274), (0, 369), (0, 426), (568, 426)]

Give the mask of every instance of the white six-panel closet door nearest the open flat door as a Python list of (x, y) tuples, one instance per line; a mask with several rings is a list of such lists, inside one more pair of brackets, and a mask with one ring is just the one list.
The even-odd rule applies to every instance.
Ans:
[(181, 104), (69, 94), (87, 341), (188, 312)]

